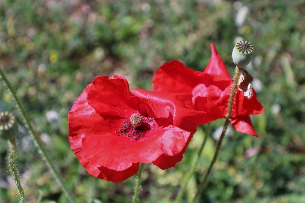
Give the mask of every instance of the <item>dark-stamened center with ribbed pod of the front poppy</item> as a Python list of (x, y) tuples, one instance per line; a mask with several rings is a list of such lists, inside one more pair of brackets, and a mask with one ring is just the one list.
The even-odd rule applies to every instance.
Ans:
[[(155, 119), (148, 114), (143, 116), (139, 113), (132, 114), (129, 118), (125, 116), (125, 120), (119, 129), (119, 135), (126, 135), (134, 140), (143, 137), (150, 129), (155, 129)], [(115, 132), (117, 133), (117, 132)]]

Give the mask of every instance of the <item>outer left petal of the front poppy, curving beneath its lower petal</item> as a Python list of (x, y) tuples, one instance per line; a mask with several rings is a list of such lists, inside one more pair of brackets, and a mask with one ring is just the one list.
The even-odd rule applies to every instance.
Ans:
[(132, 164), (131, 167), (124, 171), (116, 171), (107, 169), (106, 167), (97, 167), (91, 164), (84, 157), (81, 149), (82, 139), (84, 136), (96, 131), (102, 130), (101, 123), (104, 121), (99, 114), (87, 103), (87, 93), (91, 86), (88, 85), (84, 92), (75, 101), (71, 111), (69, 112), (69, 142), (71, 150), (80, 160), (81, 165), (94, 177), (113, 182), (121, 182), (131, 177), (138, 171), (138, 164)]

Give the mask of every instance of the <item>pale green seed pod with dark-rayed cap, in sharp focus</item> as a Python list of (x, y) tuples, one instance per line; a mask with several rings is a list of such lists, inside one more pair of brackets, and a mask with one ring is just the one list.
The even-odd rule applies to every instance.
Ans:
[(253, 58), (253, 45), (245, 40), (237, 42), (232, 51), (232, 58), (239, 69), (245, 67)]

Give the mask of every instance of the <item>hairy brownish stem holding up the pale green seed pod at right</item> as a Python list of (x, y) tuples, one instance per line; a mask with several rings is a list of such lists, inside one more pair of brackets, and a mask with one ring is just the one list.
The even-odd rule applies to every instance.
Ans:
[(234, 94), (235, 94), (235, 90), (236, 90), (236, 87), (237, 87), (237, 82), (239, 80), (240, 73), (241, 73), (241, 71), (236, 67), (235, 75), (234, 75), (234, 81), (233, 81), (233, 85), (232, 85), (232, 89), (231, 89), (231, 93), (230, 93), (230, 99), (229, 99), (229, 103), (228, 103), (228, 112), (227, 112), (226, 120), (224, 121), (224, 126), (222, 128), (222, 132), (221, 132), (220, 138), (219, 138), (219, 140), (217, 142), (217, 147), (216, 147), (216, 151), (215, 151), (214, 157), (213, 157), (213, 159), (212, 159), (212, 161), (210, 163), (210, 166), (209, 166), (209, 168), (208, 168), (208, 170), (206, 172), (206, 175), (205, 175), (202, 183), (200, 184), (200, 186), (198, 188), (198, 191), (196, 192), (194, 198), (192, 199), (192, 201), (190, 201), (190, 203), (194, 203), (196, 201), (196, 199), (198, 198), (198, 196), (203, 191), (203, 189), (206, 187), (208, 177), (210, 176), (210, 173), (211, 173), (211, 170), (213, 168), (213, 165), (214, 165), (214, 163), (217, 160), (218, 153), (220, 151), (222, 141), (224, 139), (224, 136), (225, 136), (226, 131), (228, 129), (228, 125), (230, 123), (230, 117), (231, 117), (231, 113), (232, 113)]

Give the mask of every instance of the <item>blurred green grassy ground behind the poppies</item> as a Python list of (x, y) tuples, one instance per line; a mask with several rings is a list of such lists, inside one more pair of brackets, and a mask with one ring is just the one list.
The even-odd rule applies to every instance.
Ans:
[[(228, 72), (236, 40), (254, 45), (247, 67), (265, 111), (252, 117), (259, 138), (231, 131), (202, 202), (305, 202), (304, 0), (1, 0), (0, 66), (16, 89), (49, 156), (77, 202), (130, 202), (135, 176), (112, 183), (88, 175), (70, 150), (67, 114), (99, 75), (121, 75), (132, 88), (152, 90), (165, 61), (203, 70), (219, 51)], [(0, 86), (1, 108), (13, 110)], [(223, 120), (213, 122), (211, 135)], [(26, 128), (17, 137), (18, 166), (29, 202), (67, 202)], [(194, 135), (184, 159), (166, 171), (146, 164), (141, 202), (171, 202), (201, 145)], [(196, 192), (212, 159), (210, 136), (183, 202)], [(0, 141), (0, 202), (17, 192)]]

